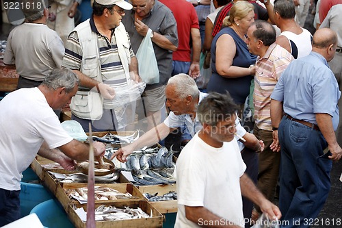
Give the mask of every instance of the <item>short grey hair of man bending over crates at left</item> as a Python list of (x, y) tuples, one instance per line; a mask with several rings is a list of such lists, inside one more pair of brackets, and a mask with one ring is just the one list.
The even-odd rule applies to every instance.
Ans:
[(44, 81), (42, 85), (47, 86), (51, 90), (57, 90), (57, 88), (66, 88), (66, 92), (71, 92), (76, 85), (79, 84), (79, 78), (73, 71), (67, 68), (55, 68), (53, 69)]

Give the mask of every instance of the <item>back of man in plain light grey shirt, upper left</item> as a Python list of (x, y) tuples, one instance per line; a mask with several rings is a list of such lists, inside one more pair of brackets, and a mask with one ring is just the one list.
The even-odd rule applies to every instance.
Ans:
[(8, 37), (3, 62), (16, 64), (19, 75), (42, 81), (53, 68), (62, 65), (64, 45), (58, 34), (47, 25), (24, 23)]

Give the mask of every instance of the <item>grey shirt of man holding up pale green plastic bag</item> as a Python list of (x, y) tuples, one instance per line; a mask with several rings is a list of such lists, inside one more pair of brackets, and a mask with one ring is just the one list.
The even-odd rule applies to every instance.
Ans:
[[(122, 24), (124, 24), (126, 31), (131, 37), (131, 45), (134, 53), (137, 53), (137, 49), (139, 49), (144, 36), (138, 34), (135, 29), (134, 10), (125, 10), (125, 13), (126, 15), (122, 18)], [(155, 5), (150, 11), (150, 14), (146, 16), (146, 18), (143, 18), (142, 22), (152, 29), (152, 31), (155, 31), (170, 40), (173, 45), (178, 46), (176, 19), (166, 5), (155, 0)], [(146, 90), (166, 85), (172, 73), (172, 51), (159, 47), (155, 42), (152, 42), (152, 44), (155, 51), (155, 58), (158, 63), (159, 83), (147, 85)]]

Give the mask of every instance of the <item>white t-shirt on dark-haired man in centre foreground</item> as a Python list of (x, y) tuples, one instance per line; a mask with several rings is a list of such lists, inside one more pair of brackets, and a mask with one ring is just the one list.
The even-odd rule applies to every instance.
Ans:
[(214, 148), (197, 133), (176, 162), (178, 213), (174, 227), (200, 227), (187, 220), (184, 205), (206, 207), (213, 214), (244, 227), (239, 181), (245, 170), (236, 140)]

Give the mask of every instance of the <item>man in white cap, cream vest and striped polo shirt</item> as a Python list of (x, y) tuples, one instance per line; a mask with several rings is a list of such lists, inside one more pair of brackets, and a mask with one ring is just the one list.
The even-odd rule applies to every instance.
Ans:
[(129, 35), (121, 23), (124, 10), (132, 5), (124, 0), (95, 0), (90, 19), (78, 25), (68, 36), (62, 66), (80, 79), (79, 90), (70, 104), (72, 118), (88, 131), (116, 129), (111, 101), (118, 86), (130, 79), (141, 81), (137, 59)]

